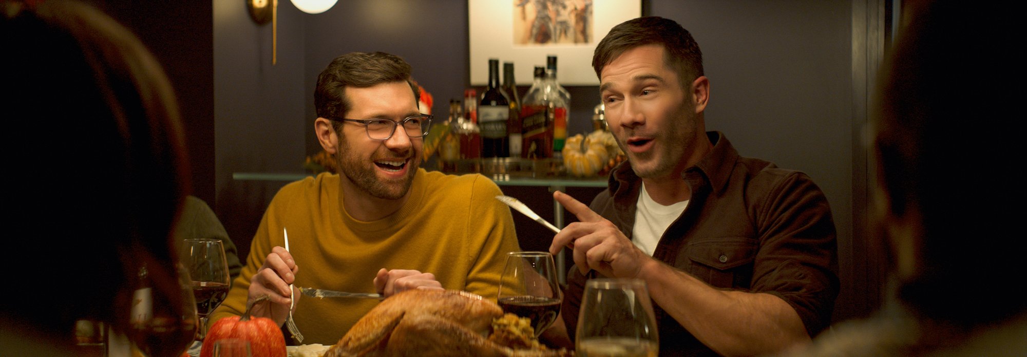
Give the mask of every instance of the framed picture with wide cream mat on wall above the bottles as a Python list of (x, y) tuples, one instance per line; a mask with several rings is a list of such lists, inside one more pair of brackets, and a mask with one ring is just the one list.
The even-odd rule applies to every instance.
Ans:
[(549, 54), (560, 84), (598, 85), (596, 44), (641, 14), (641, 0), (467, 0), (470, 85), (488, 84), (489, 58), (512, 62), (518, 83), (531, 83)]

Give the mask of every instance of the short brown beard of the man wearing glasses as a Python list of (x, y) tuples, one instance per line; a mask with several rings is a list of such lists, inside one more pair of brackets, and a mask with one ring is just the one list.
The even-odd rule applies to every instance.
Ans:
[(416, 152), (413, 146), (410, 150), (414, 151), (414, 154), (410, 162), (407, 163), (407, 174), (400, 179), (386, 180), (378, 176), (375, 157), (394, 158), (396, 156), (404, 156), (406, 153), (404, 155), (395, 155), (382, 147), (371, 159), (365, 159), (359, 157), (356, 150), (349, 148), (345, 137), (344, 134), (339, 134), (339, 154), (336, 156), (338, 157), (337, 161), (340, 173), (346, 175), (357, 189), (376, 198), (397, 200), (407, 195), (410, 187), (414, 184), (414, 175), (417, 174), (417, 169), (421, 162), (420, 154)]

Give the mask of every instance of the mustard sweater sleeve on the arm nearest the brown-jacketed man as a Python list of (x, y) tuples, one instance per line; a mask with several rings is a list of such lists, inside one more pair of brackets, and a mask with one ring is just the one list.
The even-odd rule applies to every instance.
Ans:
[(497, 195), (502, 195), (502, 191), (495, 183), (477, 175), (470, 204), (471, 211), (480, 213), (472, 214), (467, 222), (470, 240), (481, 249), (469, 251), (470, 270), (464, 289), (492, 301), (499, 292), (506, 253), (521, 250), (509, 207), (497, 200)]

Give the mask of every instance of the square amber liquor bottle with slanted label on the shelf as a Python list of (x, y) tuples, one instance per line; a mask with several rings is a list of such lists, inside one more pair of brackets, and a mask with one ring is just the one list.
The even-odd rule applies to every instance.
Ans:
[[(535, 79), (521, 105), (524, 144), (521, 156), (531, 159), (554, 157), (554, 131), (558, 118), (566, 122), (567, 105), (546, 85), (545, 68), (535, 67)], [(562, 149), (562, 148), (561, 148)]]

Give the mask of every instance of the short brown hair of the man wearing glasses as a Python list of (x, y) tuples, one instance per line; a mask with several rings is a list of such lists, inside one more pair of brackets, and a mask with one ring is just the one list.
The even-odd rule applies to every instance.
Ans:
[[(410, 64), (385, 52), (350, 52), (332, 61), (317, 76), (314, 108), (321, 118), (345, 118), (353, 106), (345, 95), (346, 87), (367, 88), (381, 83), (405, 81), (420, 101), (417, 85), (411, 79)], [(336, 128), (338, 130), (338, 128)]]

